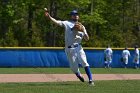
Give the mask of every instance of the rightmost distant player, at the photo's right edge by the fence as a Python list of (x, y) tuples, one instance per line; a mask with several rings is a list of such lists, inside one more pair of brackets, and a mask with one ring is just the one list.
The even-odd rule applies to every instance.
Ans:
[(135, 64), (135, 68), (138, 69), (139, 68), (139, 49), (138, 46), (135, 46), (135, 51), (134, 51), (134, 59), (133, 62)]

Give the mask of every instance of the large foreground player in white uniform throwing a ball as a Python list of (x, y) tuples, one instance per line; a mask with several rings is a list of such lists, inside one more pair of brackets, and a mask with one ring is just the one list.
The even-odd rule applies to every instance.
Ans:
[(89, 78), (89, 84), (94, 85), (92, 79), (92, 73), (90, 71), (89, 64), (87, 63), (86, 54), (82, 48), (81, 41), (84, 38), (86, 41), (89, 40), (89, 36), (85, 27), (80, 26), (83, 31), (77, 31), (79, 15), (77, 10), (70, 12), (70, 20), (61, 21), (56, 20), (49, 15), (46, 11), (45, 16), (48, 17), (55, 24), (65, 28), (65, 53), (69, 60), (70, 68), (75, 75), (84, 82), (84, 78), (80, 73), (78, 64), (81, 64), (85, 68), (85, 72)]

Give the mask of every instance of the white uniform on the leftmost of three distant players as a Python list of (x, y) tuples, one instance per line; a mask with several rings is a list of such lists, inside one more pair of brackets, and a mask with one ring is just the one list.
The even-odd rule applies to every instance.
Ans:
[(107, 64), (110, 64), (112, 62), (112, 49), (111, 48), (107, 48), (105, 51), (104, 51), (104, 54), (105, 54), (105, 58), (106, 58), (106, 61), (105, 63)]

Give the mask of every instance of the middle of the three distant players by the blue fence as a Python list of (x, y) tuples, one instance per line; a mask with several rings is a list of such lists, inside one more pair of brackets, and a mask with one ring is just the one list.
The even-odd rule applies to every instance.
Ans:
[(124, 63), (124, 68), (127, 68), (128, 58), (130, 57), (130, 52), (127, 47), (122, 51), (122, 62)]

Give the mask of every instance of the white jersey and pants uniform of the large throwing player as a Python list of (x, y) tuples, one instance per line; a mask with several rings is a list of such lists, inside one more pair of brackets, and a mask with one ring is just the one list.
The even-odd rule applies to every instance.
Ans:
[(79, 72), (78, 64), (83, 67), (89, 66), (86, 59), (86, 54), (81, 46), (81, 41), (84, 34), (87, 34), (84, 27), (84, 32), (74, 31), (74, 21), (57, 21), (60, 26), (65, 27), (65, 52), (70, 62), (70, 68), (74, 73)]

